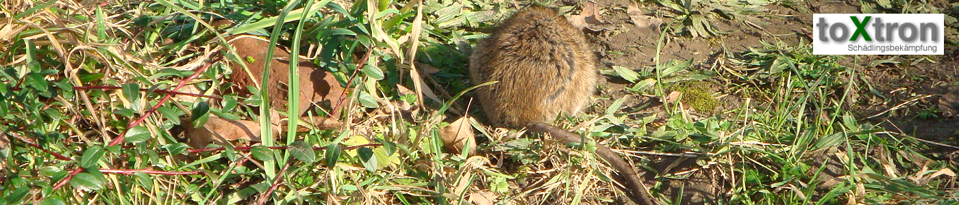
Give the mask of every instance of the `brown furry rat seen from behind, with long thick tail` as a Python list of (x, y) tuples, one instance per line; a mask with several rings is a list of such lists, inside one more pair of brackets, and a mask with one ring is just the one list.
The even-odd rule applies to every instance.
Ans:
[[(599, 77), (586, 36), (558, 12), (533, 6), (513, 14), (479, 42), (469, 72), (474, 84), (499, 81), (476, 89), (491, 124), (525, 126), (563, 143), (582, 143), (578, 134), (544, 124), (581, 111)], [(596, 154), (620, 171), (641, 203), (654, 204), (632, 166), (605, 146), (597, 144)]]

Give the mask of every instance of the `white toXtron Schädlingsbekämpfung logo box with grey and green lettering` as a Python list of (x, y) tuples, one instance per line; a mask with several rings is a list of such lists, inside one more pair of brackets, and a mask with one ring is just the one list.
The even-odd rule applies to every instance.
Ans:
[(943, 55), (944, 14), (815, 13), (813, 55)]

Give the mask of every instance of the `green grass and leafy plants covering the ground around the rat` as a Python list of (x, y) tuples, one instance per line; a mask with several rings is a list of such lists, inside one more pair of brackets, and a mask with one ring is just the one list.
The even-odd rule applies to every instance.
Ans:
[[(789, 1), (687, 2), (643, 1), (668, 8), (671, 22), (657, 48), (683, 38), (721, 41), (722, 31), (711, 22), (757, 14), (760, 6), (804, 7)], [(930, 11), (883, 2), (863, 1), (862, 7)], [(0, 204), (617, 200), (622, 192), (590, 151), (595, 145), (515, 137), (516, 130), (479, 121), (473, 124), (479, 130), (477, 155), (442, 149), (439, 129), (480, 113), (479, 106), (469, 105), (473, 86), (466, 65), (472, 46), (515, 9), (508, 2), (479, 0), (3, 2)], [(213, 23), (222, 19), (236, 24)], [(234, 34), (267, 36), (271, 44), (293, 48), (293, 57), (316, 57), (311, 61), (350, 89), (337, 107), (342, 114), (331, 116), (344, 125), (302, 132), (287, 126), (280, 130), (283, 137), (251, 148), (189, 148), (176, 134), (182, 125), (211, 117), (270, 122), (277, 116), (259, 114), (269, 113), (270, 99), (296, 102), (291, 93), (297, 86), (286, 94), (268, 93), (264, 88), (272, 79), (266, 78), (256, 80), (260, 87), (243, 87), (252, 96), (220, 92), (232, 86), (224, 82), (227, 74), (244, 72), (230, 65), (250, 60), (225, 43)], [(814, 56), (808, 43), (784, 42), (723, 52), (730, 55), (722, 66), (739, 70), (701, 69), (691, 59), (659, 61), (658, 54), (655, 68), (602, 68), (630, 81), (623, 89), (631, 96), (663, 99), (667, 90), (680, 90), (688, 93), (683, 102), (710, 111), (707, 116), (694, 117), (674, 104), (666, 104), (662, 115), (637, 114), (643, 110), (629, 109), (637, 104), (620, 98), (556, 125), (582, 127), (578, 131), (586, 137), (612, 148), (646, 151), (630, 159), (647, 175), (655, 174), (658, 183), (651, 191), (670, 204), (686, 201), (676, 196), (683, 191), (665, 181), (685, 181), (696, 171), (664, 171), (651, 164), (661, 155), (681, 153), (694, 155), (680, 157), (695, 165), (691, 168), (720, 173), (716, 180), (725, 187), (717, 198), (723, 204), (959, 203), (954, 174), (945, 174), (957, 165), (946, 154), (854, 117), (851, 92), (868, 92), (872, 85), (858, 80), (861, 70), (843, 57)], [(929, 59), (877, 63), (911, 66), (924, 60)], [(413, 72), (414, 66), (425, 72)], [(291, 74), (290, 84), (304, 75), (294, 66), (281, 72)], [(167, 99), (180, 85), (187, 88), (178, 92), (201, 96)], [(709, 93), (709, 86), (721, 93)], [(737, 108), (709, 108), (722, 103), (714, 102), (718, 94), (742, 101)], [(398, 108), (403, 103), (410, 108)], [(276, 108), (297, 109), (289, 104)], [(938, 112), (915, 109), (922, 118)], [(281, 124), (297, 124), (286, 116), (278, 115), (286, 119)], [(270, 136), (273, 130), (262, 124), (253, 131)], [(829, 171), (839, 175), (825, 177)], [(831, 186), (819, 187), (825, 183)]]

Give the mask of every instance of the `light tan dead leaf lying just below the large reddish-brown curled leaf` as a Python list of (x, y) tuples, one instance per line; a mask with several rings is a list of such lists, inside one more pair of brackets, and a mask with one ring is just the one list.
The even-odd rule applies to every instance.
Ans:
[[(210, 116), (202, 127), (186, 125), (184, 135), (192, 148), (206, 148), (210, 143), (225, 145), (232, 141), (246, 140), (260, 142), (260, 124), (252, 121), (235, 121)], [(274, 137), (279, 135), (280, 127), (272, 125)]]

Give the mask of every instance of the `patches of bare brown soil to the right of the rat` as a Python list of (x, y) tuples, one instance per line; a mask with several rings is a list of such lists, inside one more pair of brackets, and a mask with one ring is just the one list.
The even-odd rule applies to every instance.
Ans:
[[(601, 18), (606, 21), (599, 31), (589, 32), (594, 44), (597, 55), (600, 56), (598, 64), (600, 69), (611, 70), (614, 65), (640, 70), (645, 67), (654, 67), (654, 58), (657, 53), (657, 44), (660, 39), (660, 29), (653, 27), (637, 27), (633, 24), (628, 8), (634, 1), (629, 0), (596, 0), (596, 5), (601, 11)], [(770, 5), (763, 7), (763, 13), (750, 15), (750, 19), (745, 19), (749, 23), (738, 23), (738, 20), (729, 20), (724, 18), (713, 18), (711, 20), (713, 27), (725, 34), (720, 34), (711, 38), (673, 36), (667, 34), (667, 42), (663, 43), (661, 50), (661, 62), (671, 59), (693, 60), (693, 69), (706, 72), (714, 72), (717, 66), (728, 63), (728, 57), (735, 57), (737, 53), (748, 51), (749, 48), (761, 48), (761, 42), (784, 42), (786, 44), (807, 44), (811, 41), (812, 14), (811, 13), (861, 13), (858, 1), (807, 1), (799, 3), (793, 7), (785, 8), (782, 6)], [(930, 5), (947, 5), (945, 0), (931, 1)], [(669, 9), (655, 5), (639, 6), (646, 14), (654, 17), (660, 17), (667, 22), (671, 19), (662, 17), (662, 13)], [(775, 13), (775, 14), (768, 14)], [(947, 31), (947, 42), (949, 33), (955, 33), (954, 30)], [(897, 57), (900, 64), (892, 66), (889, 64), (871, 64), (877, 59), (888, 59), (894, 56), (849, 56), (841, 63), (850, 68), (858, 69), (859, 79), (854, 80), (858, 90), (853, 91), (855, 99), (854, 104), (847, 107), (853, 110), (856, 119), (868, 120), (873, 124), (878, 124), (888, 131), (900, 132), (905, 135), (915, 136), (920, 139), (938, 142), (950, 146), (959, 146), (959, 117), (942, 116), (941, 111), (936, 112), (935, 107), (939, 99), (950, 89), (959, 88), (959, 57), (955, 53), (947, 53), (945, 56), (901, 56)], [(919, 61), (924, 58), (927, 60)], [(724, 88), (721, 80), (706, 80), (712, 82), (711, 91), (715, 92), (713, 96), (721, 97), (720, 105), (716, 109), (729, 110), (738, 108), (741, 105), (735, 93)], [(613, 100), (629, 96), (629, 102), (625, 102), (627, 109), (638, 108), (641, 104), (651, 102), (656, 104), (659, 99), (646, 97), (630, 91), (626, 88), (632, 83), (621, 80), (619, 77), (605, 78), (601, 83), (596, 105), (590, 111), (601, 112), (601, 109), (608, 107)], [(872, 90), (870, 90), (872, 89)], [(927, 96), (928, 95), (928, 96)], [(917, 100), (918, 99), (918, 100)], [(915, 101), (913, 101), (915, 100)], [(906, 103), (895, 110), (896, 105)], [(633, 104), (635, 106), (629, 107)], [(661, 112), (658, 109), (661, 106), (654, 105), (653, 111)], [(920, 114), (931, 113), (931, 117)], [(879, 114), (879, 115), (877, 115)], [(874, 116), (870, 118), (870, 116)], [(661, 118), (664, 115), (659, 115)], [(639, 116), (642, 117), (642, 116)], [(929, 145), (934, 151), (949, 152), (957, 151), (954, 148)], [(667, 159), (665, 157), (655, 158), (649, 156), (653, 165), (650, 168), (666, 169), (666, 166), (676, 159)], [(693, 161), (694, 160), (688, 160)], [(690, 171), (701, 169), (695, 163), (688, 166), (678, 166), (669, 172)], [(658, 169), (663, 173), (665, 170)], [(653, 180), (651, 171), (645, 174), (649, 180)], [(729, 196), (729, 186), (722, 180), (719, 169), (701, 169), (694, 171), (690, 176), (683, 179), (666, 179), (661, 177), (661, 194), (668, 198), (676, 198), (676, 194), (683, 194), (683, 203), (690, 204), (712, 204), (720, 203), (723, 198)]]

